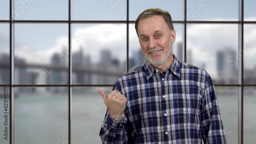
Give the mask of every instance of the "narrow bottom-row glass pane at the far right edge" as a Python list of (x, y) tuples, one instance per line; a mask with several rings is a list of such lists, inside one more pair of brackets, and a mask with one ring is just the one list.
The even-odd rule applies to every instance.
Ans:
[(256, 87), (244, 88), (244, 143), (256, 141)]

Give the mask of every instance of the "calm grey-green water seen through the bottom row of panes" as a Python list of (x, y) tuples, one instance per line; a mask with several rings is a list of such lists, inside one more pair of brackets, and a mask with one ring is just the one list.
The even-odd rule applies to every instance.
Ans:
[[(74, 90), (75, 91), (75, 90)], [(238, 143), (238, 95), (218, 95), (228, 143)], [(3, 106), (0, 99), (0, 106)], [(244, 143), (256, 141), (256, 95), (244, 99)], [(100, 126), (106, 107), (98, 93), (74, 93), (72, 97), (72, 143), (101, 143)], [(3, 109), (0, 109), (3, 114)], [(53, 143), (68, 140), (68, 94), (23, 94), (15, 98), (15, 144)], [(0, 118), (0, 143), (3, 138)]]

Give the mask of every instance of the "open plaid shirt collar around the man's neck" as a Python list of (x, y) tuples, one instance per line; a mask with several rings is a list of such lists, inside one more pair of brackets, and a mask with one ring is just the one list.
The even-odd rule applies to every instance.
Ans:
[[(180, 78), (180, 62), (177, 60), (175, 55), (173, 55), (173, 56), (174, 56), (174, 62), (165, 71), (166, 72), (168, 70), (172, 71), (175, 76)], [(155, 73), (156, 70), (158, 70), (158, 69), (155, 68), (153, 65), (151, 65), (148, 61), (146, 61), (144, 64), (144, 70), (146, 73), (146, 78), (148, 80), (152, 77), (153, 73)]]

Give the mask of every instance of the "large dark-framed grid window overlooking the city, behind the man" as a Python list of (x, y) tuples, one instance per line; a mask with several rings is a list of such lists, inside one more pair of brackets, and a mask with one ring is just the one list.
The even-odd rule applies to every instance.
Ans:
[[(179, 60), (214, 80), (229, 143), (256, 141), (255, 1), (10, 0), (0, 2), (0, 113), (8, 88), (8, 140), (0, 143), (100, 143), (112, 90), (143, 64), (134, 28), (145, 9), (173, 18)], [(10, 7), (11, 6), (11, 7)], [(38, 131), (39, 130), (39, 131)], [(47, 137), (47, 138), (46, 138)]]

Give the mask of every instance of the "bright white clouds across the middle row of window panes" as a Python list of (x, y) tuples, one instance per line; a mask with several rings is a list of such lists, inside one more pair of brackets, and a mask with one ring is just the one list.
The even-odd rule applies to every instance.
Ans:
[[(139, 49), (137, 34), (134, 24), (130, 24), (129, 51)], [(108, 49), (112, 58), (122, 61), (126, 59), (126, 24), (76, 24), (72, 28), (72, 52), (77, 52), (80, 47), (84, 54), (90, 54), (92, 62), (99, 62), (100, 51)], [(182, 41), (182, 30), (177, 33), (176, 42)], [(256, 36), (256, 27), (245, 25), (244, 40), (251, 40)], [(26, 58), (33, 63), (48, 63), (54, 53), (60, 53), (66, 47), (68, 51), (68, 37), (59, 36), (50, 49), (33, 50), (28, 45), (16, 47), (15, 54)], [(237, 24), (202, 24), (187, 25), (187, 49), (193, 54), (193, 64), (206, 63), (206, 69), (216, 70), (216, 52), (231, 47), (238, 52), (238, 25)], [(18, 49), (17, 49), (18, 48)], [(131, 54), (131, 53), (130, 53)], [(250, 49), (246, 59), (253, 64), (256, 50)], [(67, 57), (68, 59), (68, 57)], [(43, 60), (43, 61), (42, 61)]]

